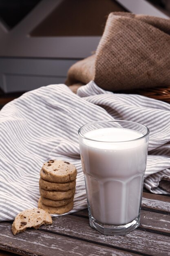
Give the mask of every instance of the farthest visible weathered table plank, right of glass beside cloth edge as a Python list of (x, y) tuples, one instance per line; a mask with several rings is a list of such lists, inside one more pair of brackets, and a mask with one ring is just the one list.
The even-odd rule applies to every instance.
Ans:
[(170, 197), (144, 192), (142, 197), (142, 207), (170, 213)]

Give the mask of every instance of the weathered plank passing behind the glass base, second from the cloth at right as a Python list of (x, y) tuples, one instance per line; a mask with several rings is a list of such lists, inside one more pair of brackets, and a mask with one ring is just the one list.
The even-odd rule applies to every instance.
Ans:
[[(72, 213), (74, 216), (82, 216), (88, 218), (88, 210), (77, 211)], [(170, 234), (170, 216), (152, 211), (141, 211), (140, 227), (159, 232)]]

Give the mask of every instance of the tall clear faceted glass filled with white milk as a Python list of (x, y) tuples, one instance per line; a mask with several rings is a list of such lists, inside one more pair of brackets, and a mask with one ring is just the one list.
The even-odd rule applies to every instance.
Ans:
[(126, 235), (139, 226), (149, 129), (131, 121), (79, 128), (90, 226)]

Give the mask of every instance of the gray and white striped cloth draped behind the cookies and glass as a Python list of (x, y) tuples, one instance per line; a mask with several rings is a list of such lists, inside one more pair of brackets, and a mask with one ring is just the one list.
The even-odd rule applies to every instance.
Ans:
[[(66, 85), (48, 85), (26, 92), (0, 111), (0, 221), (38, 206), (42, 164), (63, 159), (75, 164), (77, 185), (73, 210), (87, 207), (77, 131), (92, 121), (130, 120), (150, 129), (145, 186), (169, 193), (170, 105), (140, 95), (114, 94), (93, 81), (77, 94)], [(57, 215), (55, 215), (57, 216)]]

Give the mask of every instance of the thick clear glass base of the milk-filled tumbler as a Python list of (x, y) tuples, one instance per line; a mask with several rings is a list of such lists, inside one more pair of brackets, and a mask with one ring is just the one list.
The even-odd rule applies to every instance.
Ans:
[(109, 224), (103, 224), (95, 218), (91, 214), (89, 214), (89, 222), (90, 226), (102, 233), (103, 235), (126, 235), (132, 230), (139, 227), (139, 221), (140, 221), (140, 213), (135, 218), (135, 220), (132, 220), (128, 224), (123, 225), (109, 225)]

